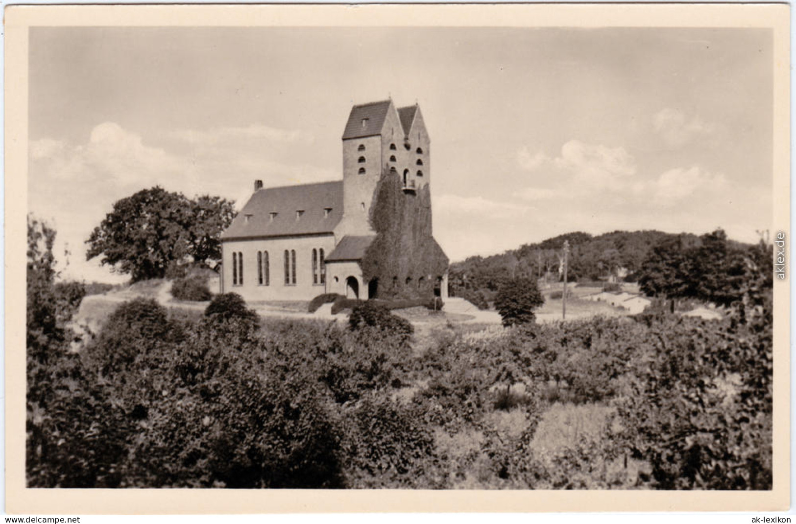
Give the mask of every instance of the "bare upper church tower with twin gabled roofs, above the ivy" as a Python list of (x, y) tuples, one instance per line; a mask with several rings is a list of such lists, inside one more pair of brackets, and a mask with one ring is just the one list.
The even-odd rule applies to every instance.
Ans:
[(419, 105), (382, 100), (351, 108), (342, 135), (343, 219), (337, 234), (373, 235), (371, 205), (383, 172), (400, 178), (408, 197), (431, 176), (430, 140)]

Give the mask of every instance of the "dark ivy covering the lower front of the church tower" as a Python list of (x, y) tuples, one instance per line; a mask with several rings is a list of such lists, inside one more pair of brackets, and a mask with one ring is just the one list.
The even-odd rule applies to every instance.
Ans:
[(402, 186), (400, 175), (381, 174), (370, 207), (376, 238), (362, 259), (362, 276), (365, 282), (378, 279), (381, 299), (430, 298), (448, 258), (431, 236), (429, 186), (416, 194)]

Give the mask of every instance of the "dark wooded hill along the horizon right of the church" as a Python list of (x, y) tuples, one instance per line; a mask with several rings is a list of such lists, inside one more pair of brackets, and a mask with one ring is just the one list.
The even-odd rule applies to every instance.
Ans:
[[(696, 285), (694, 281), (709, 276), (715, 282), (708, 285), (716, 288), (727, 284), (719, 282), (721, 274), (734, 275), (740, 271), (739, 265), (743, 265), (744, 257), (759, 258), (755, 254), (759, 246), (729, 240), (720, 229), (702, 236), (661, 231), (615, 231), (596, 237), (588, 233), (567, 233), (537, 244), (524, 244), (500, 255), (471, 256), (451, 264), (451, 292), (483, 302), (494, 299), (494, 293), (503, 284), (517, 277), (547, 278), (550, 282), (557, 282), (561, 279), (559, 269), (566, 240), (570, 245), (568, 280), (595, 282), (615, 276), (620, 281), (646, 283), (642, 289), (654, 296), (680, 293), (682, 296), (704, 298), (705, 292), (676, 291), (672, 286), (667, 287), (665, 281), (677, 282), (674, 286), (677, 287), (689, 280), (688, 286), (693, 287)], [(712, 270), (709, 269), (711, 264), (703, 260), (709, 252), (713, 253)], [(731, 256), (732, 260), (724, 260), (724, 256)], [(683, 260), (696, 257), (701, 261), (680, 264), (675, 260), (678, 257)], [(704, 268), (704, 271), (699, 268)], [(717, 295), (716, 289), (712, 295)], [(719, 302), (726, 301), (721, 299)]]

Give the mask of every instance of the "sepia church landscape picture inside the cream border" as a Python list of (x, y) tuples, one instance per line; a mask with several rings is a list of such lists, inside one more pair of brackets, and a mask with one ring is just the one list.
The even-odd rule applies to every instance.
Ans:
[(29, 25), (24, 488), (787, 491), (775, 28), (389, 7)]

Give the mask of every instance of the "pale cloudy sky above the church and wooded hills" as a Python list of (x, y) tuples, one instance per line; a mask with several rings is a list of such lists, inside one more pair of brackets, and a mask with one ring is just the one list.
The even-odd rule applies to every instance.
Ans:
[(115, 201), (340, 179), (351, 106), (391, 97), (423, 111), (451, 261), (572, 231), (753, 242), (772, 91), (768, 29), (37, 27), (29, 212), (63, 278), (123, 281), (85, 260)]

